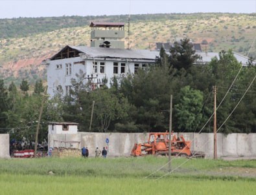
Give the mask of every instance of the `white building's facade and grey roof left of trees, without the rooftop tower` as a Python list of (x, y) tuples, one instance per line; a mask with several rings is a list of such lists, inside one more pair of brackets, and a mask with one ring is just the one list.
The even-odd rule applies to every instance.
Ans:
[(136, 74), (139, 68), (146, 69), (155, 63), (157, 51), (126, 50), (121, 48), (93, 48), (86, 46), (65, 46), (60, 52), (45, 61), (47, 65), (48, 94), (69, 94), (71, 79), (83, 76), (89, 83), (89, 90), (99, 88), (111, 78), (121, 82), (129, 74)]

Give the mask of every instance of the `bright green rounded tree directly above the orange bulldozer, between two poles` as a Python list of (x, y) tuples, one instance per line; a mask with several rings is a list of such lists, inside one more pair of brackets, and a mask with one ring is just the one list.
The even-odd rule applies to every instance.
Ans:
[(179, 131), (194, 132), (202, 119), (203, 93), (189, 86), (181, 88), (174, 106)]

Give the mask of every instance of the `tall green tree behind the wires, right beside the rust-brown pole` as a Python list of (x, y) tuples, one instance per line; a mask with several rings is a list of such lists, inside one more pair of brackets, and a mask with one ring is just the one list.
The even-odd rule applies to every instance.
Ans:
[[(242, 67), (241, 63), (237, 61), (234, 57), (233, 52), (231, 50), (224, 51), (219, 53), (219, 57), (214, 57), (209, 64), (211, 71), (213, 73), (213, 85), (216, 85), (218, 88), (224, 88), (224, 90), (217, 91), (217, 106), (220, 101), (222, 101), (225, 96), (227, 89), (230, 87), (231, 83), (234, 81), (235, 77), (239, 73), (240, 68)], [(243, 80), (242, 77), (244, 70), (241, 70), (239, 77), (237, 77), (235, 83), (233, 84), (233, 88), (239, 87), (239, 83)], [(240, 86), (242, 87), (242, 86)], [(244, 88), (244, 86), (242, 87)], [(231, 113), (237, 102), (239, 101), (240, 96), (234, 96), (231, 92), (229, 92), (222, 102), (221, 107), (217, 110), (218, 116), (218, 124), (222, 124), (227, 116)], [(222, 126), (219, 132), (230, 133), (235, 132), (234, 129), (235, 121), (231, 119), (227, 120), (226, 123)]]

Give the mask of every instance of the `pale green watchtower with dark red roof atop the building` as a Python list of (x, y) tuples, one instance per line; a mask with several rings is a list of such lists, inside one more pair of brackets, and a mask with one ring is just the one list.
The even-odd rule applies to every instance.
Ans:
[(91, 47), (124, 48), (124, 23), (91, 22)]

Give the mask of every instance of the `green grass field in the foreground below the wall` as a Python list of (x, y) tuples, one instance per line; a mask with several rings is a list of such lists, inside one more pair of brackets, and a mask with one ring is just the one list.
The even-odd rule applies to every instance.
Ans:
[[(172, 161), (172, 169), (186, 161)], [(256, 194), (256, 161), (167, 158), (0, 159), (0, 194)], [(54, 172), (53, 175), (49, 171)]]

